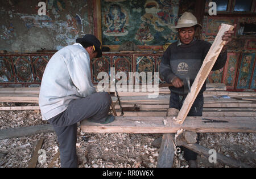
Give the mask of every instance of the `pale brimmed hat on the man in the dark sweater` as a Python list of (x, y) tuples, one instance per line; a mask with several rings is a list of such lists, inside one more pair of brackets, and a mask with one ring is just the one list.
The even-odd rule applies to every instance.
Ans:
[(178, 28), (193, 27), (194, 25), (202, 27), (201, 24), (197, 23), (196, 17), (191, 12), (184, 12), (179, 18), (177, 25), (171, 26), (171, 29), (176, 30)]

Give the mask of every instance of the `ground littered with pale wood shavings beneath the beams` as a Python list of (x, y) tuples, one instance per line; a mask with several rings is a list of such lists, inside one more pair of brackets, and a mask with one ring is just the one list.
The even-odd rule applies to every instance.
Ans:
[[(6, 105), (6, 104), (1, 104)], [(40, 113), (34, 110), (0, 111), (0, 129), (9, 127), (32, 126), (45, 124)], [(127, 134), (127, 133), (82, 133), (78, 130), (77, 155), (81, 168), (122, 168), (146, 167), (154, 168), (157, 164), (159, 148), (153, 147), (152, 142), (160, 134)], [(1, 168), (28, 167), (35, 146), (44, 138), (42, 149), (46, 151), (46, 162), (38, 163), (36, 167), (48, 167), (57, 154), (58, 143), (55, 133), (44, 133), (0, 140), (0, 150), (8, 152), (0, 155)], [(201, 133), (200, 144), (228, 157), (241, 160), (243, 163), (256, 167), (254, 133)], [(199, 167), (230, 167), (217, 162), (209, 163), (208, 158), (198, 156)], [(53, 167), (60, 167), (58, 158)], [(174, 167), (187, 168), (188, 163), (183, 154), (175, 156)]]

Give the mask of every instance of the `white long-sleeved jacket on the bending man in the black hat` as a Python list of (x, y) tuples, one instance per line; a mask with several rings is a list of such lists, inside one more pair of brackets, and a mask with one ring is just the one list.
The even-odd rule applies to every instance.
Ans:
[(90, 58), (81, 44), (60, 49), (47, 63), (39, 93), (43, 120), (67, 109), (73, 99), (96, 92), (90, 75)]

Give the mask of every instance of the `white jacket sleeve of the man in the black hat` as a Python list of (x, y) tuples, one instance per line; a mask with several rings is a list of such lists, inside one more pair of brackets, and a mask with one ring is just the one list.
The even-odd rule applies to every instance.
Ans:
[(86, 97), (96, 92), (90, 74), (90, 58), (86, 53), (77, 54), (67, 66), (80, 97)]

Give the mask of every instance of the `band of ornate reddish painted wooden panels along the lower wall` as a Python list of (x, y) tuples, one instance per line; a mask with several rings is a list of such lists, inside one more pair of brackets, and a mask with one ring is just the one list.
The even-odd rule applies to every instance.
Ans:
[[(8, 54), (0, 56), (0, 87), (38, 87), (43, 71), (53, 54)], [(129, 80), (129, 72), (159, 72), (163, 53), (104, 53), (90, 63), (92, 82), (101, 79), (98, 73), (109, 74), (114, 67), (115, 74), (124, 71)], [(212, 71), (208, 83), (225, 83), (229, 90), (256, 90), (255, 86), (255, 52), (244, 50), (243, 53), (228, 53), (226, 65), (221, 70)], [(128, 81), (129, 82), (129, 81)], [(159, 76), (159, 83), (164, 83)]]

